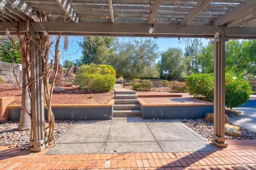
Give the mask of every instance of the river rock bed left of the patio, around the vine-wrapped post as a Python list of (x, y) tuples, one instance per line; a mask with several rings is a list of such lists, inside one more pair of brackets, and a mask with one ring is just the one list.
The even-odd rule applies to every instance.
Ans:
[[(75, 122), (73, 120), (55, 120), (55, 138), (62, 135)], [(47, 122), (46, 124), (48, 125)], [(19, 147), (30, 144), (30, 130), (17, 131), (18, 125), (18, 121), (0, 123), (0, 146)]]

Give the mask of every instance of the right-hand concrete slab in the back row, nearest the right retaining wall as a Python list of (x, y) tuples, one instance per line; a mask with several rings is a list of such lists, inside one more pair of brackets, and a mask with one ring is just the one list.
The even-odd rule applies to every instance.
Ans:
[(201, 141), (194, 133), (175, 120), (152, 120), (147, 122), (148, 128), (157, 141)]

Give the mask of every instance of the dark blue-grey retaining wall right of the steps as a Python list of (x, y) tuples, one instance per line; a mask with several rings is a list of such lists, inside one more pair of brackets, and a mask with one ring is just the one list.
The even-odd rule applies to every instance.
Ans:
[(140, 104), (143, 119), (198, 119), (206, 113), (213, 113), (213, 105), (204, 106), (143, 106)]

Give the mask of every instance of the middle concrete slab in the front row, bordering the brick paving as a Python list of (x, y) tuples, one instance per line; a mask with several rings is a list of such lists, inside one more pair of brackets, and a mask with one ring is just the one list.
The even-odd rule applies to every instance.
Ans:
[(163, 152), (157, 142), (107, 143), (104, 153)]

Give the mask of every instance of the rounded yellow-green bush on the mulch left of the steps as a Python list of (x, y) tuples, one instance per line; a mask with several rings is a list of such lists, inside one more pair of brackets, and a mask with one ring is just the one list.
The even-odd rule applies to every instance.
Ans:
[(77, 72), (75, 84), (79, 85), (82, 90), (108, 92), (114, 88), (116, 82), (113, 70), (111, 66), (82, 65)]

